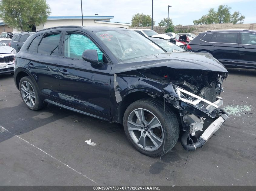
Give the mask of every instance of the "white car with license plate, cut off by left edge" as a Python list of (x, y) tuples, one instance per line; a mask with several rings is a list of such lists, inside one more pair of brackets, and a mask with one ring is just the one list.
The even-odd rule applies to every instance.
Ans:
[(0, 74), (13, 73), (13, 60), (16, 50), (0, 42)]

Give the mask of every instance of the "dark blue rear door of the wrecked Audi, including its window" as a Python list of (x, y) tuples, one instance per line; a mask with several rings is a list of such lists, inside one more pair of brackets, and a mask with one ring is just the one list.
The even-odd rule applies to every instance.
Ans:
[(43, 99), (60, 103), (58, 61), (61, 32), (34, 38), (24, 56), (25, 68), (35, 79)]

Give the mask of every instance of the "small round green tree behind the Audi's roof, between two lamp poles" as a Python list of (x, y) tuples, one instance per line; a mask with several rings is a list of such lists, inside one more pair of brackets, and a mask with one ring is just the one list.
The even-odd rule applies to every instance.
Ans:
[[(153, 26), (155, 21), (153, 21)], [(149, 27), (151, 26), (151, 16), (145, 14), (135, 14), (132, 15), (131, 26), (130, 27)]]

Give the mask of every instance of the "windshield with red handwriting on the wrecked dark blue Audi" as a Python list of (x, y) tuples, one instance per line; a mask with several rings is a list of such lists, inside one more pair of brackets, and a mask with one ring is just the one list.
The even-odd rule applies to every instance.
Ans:
[(109, 30), (94, 33), (121, 62), (165, 52), (135, 31)]

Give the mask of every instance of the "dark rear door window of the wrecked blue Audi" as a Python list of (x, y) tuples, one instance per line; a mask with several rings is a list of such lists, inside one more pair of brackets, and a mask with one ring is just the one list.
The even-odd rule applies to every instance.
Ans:
[(46, 55), (58, 55), (60, 36), (60, 33), (45, 35), (38, 46), (37, 52)]

